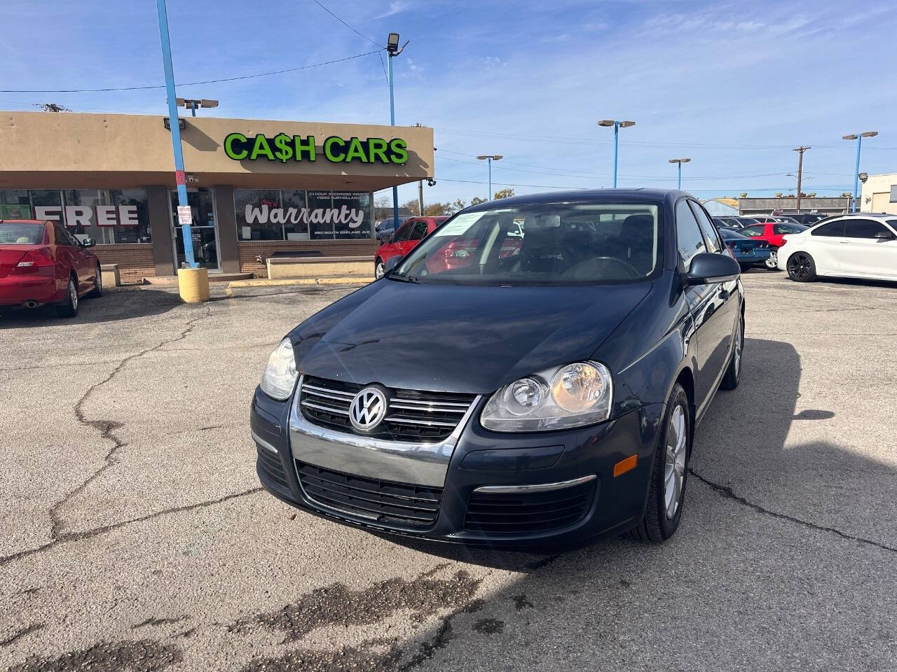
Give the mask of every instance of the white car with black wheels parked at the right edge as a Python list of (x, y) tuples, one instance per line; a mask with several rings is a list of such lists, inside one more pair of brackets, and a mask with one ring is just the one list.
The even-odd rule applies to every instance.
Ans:
[(897, 280), (897, 215), (854, 212), (784, 238), (779, 270), (797, 282), (821, 276)]

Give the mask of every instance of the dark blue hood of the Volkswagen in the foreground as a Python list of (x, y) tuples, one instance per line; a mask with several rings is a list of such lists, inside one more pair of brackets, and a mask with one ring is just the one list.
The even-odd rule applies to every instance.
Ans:
[(592, 357), (650, 288), (650, 281), (498, 288), (385, 279), (309, 318), (293, 343), (309, 375), (489, 393), (548, 366)]

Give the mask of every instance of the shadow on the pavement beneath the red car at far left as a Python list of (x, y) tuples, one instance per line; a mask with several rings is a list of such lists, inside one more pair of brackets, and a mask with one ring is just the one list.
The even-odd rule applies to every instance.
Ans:
[(161, 289), (112, 291), (99, 298), (82, 298), (74, 318), (59, 317), (54, 306), (30, 310), (0, 307), (0, 329), (118, 322), (167, 313), (181, 305), (176, 292)]

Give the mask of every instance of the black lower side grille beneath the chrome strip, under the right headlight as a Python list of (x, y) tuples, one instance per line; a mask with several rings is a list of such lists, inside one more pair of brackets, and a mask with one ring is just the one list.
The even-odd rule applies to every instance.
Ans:
[(527, 535), (569, 527), (586, 517), (594, 479), (560, 490), (533, 493), (474, 492), (464, 529), (489, 535)]

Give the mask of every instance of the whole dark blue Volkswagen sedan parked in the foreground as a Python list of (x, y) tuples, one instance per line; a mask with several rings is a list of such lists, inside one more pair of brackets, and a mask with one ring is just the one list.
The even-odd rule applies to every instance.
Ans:
[[(461, 240), (479, 241), (470, 263), (428, 270)], [(744, 344), (740, 269), (699, 202), (511, 197), (386, 266), (269, 358), (250, 410), (266, 490), (456, 543), (675, 533), (695, 427), (738, 384)]]

